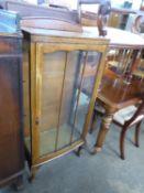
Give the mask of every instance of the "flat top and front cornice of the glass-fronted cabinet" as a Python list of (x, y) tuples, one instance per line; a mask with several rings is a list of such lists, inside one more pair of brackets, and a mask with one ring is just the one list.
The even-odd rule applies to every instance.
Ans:
[(67, 32), (57, 30), (45, 30), (34, 28), (22, 28), (24, 35), (31, 35), (33, 42), (57, 42), (57, 43), (82, 43), (88, 45), (109, 45), (109, 39), (98, 36), (98, 30), (93, 32), (84, 29), (82, 32)]

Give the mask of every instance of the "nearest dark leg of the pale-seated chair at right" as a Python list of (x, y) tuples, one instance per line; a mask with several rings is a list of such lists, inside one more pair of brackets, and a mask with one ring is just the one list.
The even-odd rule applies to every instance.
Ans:
[(124, 156), (124, 139), (125, 139), (126, 128), (123, 128), (120, 136), (120, 157), (122, 160), (125, 159)]

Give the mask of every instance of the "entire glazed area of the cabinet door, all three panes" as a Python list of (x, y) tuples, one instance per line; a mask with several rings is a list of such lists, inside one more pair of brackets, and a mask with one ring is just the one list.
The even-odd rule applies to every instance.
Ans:
[(80, 139), (99, 58), (82, 51), (44, 54), (40, 156)]

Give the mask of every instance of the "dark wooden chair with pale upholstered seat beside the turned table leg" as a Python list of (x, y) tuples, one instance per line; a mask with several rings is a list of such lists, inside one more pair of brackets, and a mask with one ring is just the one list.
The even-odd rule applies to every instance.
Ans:
[(124, 139), (125, 133), (129, 128), (132, 126), (135, 127), (135, 146), (139, 147), (139, 133), (140, 133), (140, 126), (142, 120), (144, 119), (144, 99), (139, 105), (139, 107), (135, 106), (129, 106), (126, 108), (123, 108), (119, 111), (117, 111), (113, 116), (113, 122), (121, 127), (121, 135), (120, 135), (120, 157), (124, 160)]

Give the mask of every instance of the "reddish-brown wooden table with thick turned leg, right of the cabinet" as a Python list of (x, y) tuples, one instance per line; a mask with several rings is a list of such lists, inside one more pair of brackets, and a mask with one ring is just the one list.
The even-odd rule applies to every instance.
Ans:
[(133, 79), (131, 84), (126, 84), (122, 78), (113, 76), (111, 73), (104, 75), (98, 100), (103, 104), (106, 114), (95, 144), (95, 153), (101, 151), (114, 112), (139, 103), (142, 95), (144, 95), (144, 82)]

